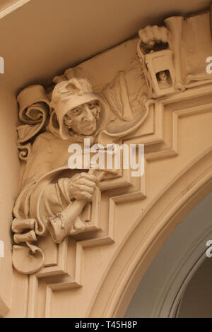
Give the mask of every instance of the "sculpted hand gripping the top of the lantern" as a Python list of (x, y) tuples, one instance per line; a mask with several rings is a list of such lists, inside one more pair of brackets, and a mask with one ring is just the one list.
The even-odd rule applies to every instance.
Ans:
[(158, 25), (147, 25), (146, 28), (139, 30), (139, 37), (146, 49), (150, 51), (155, 44), (167, 43), (168, 30), (165, 27), (158, 27)]

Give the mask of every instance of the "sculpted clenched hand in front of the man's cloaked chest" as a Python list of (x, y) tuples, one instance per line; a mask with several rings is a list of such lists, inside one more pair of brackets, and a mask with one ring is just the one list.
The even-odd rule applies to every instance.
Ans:
[(86, 172), (76, 174), (69, 181), (69, 194), (79, 200), (92, 201), (97, 181), (95, 175)]

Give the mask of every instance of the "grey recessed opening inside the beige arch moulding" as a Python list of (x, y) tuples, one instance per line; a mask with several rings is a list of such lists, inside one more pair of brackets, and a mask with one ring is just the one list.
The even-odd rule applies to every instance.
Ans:
[(212, 261), (206, 256), (206, 242), (212, 239), (211, 206), (212, 194), (209, 194), (172, 232), (143, 276), (126, 317), (195, 315), (197, 310), (195, 304), (192, 309), (192, 300), (198, 296), (203, 313), (208, 287), (205, 273), (210, 271), (210, 264), (212, 273)]

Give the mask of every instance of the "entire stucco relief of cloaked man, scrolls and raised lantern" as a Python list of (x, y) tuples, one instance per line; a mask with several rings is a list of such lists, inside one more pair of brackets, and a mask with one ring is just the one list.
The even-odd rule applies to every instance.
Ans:
[[(96, 90), (84, 76), (67, 69), (54, 78), (56, 85), (50, 92), (42, 85), (20, 92), (22, 124), (17, 130), (23, 167), (12, 224), (13, 266), (19, 272), (35, 273), (44, 266), (40, 237), (49, 233), (60, 244), (67, 235), (87, 232), (88, 206), (96, 186), (117, 176), (106, 168), (71, 170), (69, 146), (83, 146), (84, 138), (89, 138), (90, 146), (119, 143), (142, 126), (151, 103), (211, 79), (204, 65), (199, 66), (210, 49), (212, 53), (211, 43), (190, 41), (203, 24), (209, 27), (208, 13), (185, 20), (167, 18), (166, 26), (140, 30), (137, 57), (130, 68)], [(191, 49), (199, 45), (201, 59), (196, 56), (194, 61)]]

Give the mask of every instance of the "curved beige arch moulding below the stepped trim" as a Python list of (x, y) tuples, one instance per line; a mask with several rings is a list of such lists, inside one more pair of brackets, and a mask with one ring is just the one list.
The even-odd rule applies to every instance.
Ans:
[(212, 151), (206, 150), (163, 193), (158, 194), (145, 215), (137, 220), (134, 230), (105, 273), (88, 316), (124, 316), (160, 247), (194, 206), (211, 192), (211, 160)]

